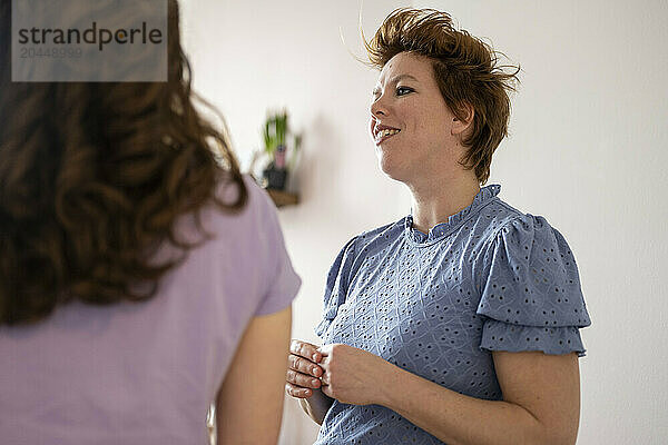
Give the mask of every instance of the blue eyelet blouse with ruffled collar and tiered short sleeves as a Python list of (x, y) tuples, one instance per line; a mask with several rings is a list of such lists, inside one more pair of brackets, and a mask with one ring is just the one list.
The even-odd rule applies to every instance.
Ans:
[[(540, 216), (483, 187), (433, 227), (411, 216), (351, 239), (336, 257), (315, 328), (342, 343), (472, 397), (502, 399), (492, 350), (584, 355), (590, 325), (576, 259)], [(324, 444), (442, 444), (395, 412), (334, 400)]]

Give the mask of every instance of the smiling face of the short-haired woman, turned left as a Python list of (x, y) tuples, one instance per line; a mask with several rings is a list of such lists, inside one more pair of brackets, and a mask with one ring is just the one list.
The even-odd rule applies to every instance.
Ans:
[(400, 52), (385, 63), (373, 91), (370, 130), (387, 176), (410, 185), (461, 170), (458, 142), (466, 127), (445, 105), (429, 58)]

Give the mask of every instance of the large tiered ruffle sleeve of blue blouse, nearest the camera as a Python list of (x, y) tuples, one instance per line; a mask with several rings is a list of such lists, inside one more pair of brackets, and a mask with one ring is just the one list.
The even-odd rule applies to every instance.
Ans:
[(584, 355), (579, 328), (591, 324), (576, 259), (543, 217), (505, 224), (484, 251), (478, 314), (480, 347)]

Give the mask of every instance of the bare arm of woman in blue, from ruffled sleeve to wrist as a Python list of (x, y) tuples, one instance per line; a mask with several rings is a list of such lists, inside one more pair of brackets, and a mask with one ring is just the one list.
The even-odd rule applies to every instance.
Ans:
[(379, 404), (451, 445), (574, 444), (577, 356), (494, 352), (493, 357), (503, 400), (464, 396), (391, 365)]

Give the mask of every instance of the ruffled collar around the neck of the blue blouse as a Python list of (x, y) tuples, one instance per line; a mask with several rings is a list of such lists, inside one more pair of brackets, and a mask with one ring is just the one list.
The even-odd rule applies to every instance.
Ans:
[(490, 204), (500, 191), (501, 186), (498, 184), (482, 187), (473, 198), (473, 202), (471, 202), (471, 205), (448, 217), (446, 222), (436, 224), (429, 230), (429, 234), (424, 234), (413, 228), (413, 215), (409, 215), (404, 220), (404, 231), (406, 234), (406, 238), (419, 245), (431, 245), (435, 241), (439, 241), (452, 234), (471, 216), (478, 214), (483, 207)]

